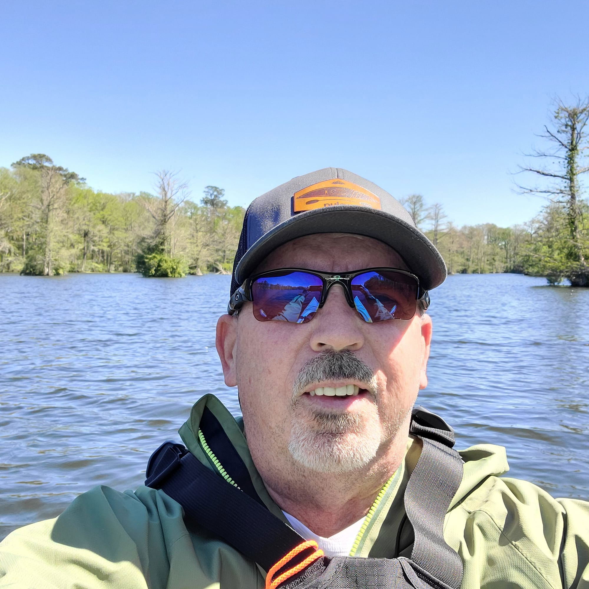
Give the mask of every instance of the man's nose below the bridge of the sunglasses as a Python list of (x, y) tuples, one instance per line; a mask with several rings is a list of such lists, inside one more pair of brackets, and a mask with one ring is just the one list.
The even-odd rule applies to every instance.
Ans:
[(310, 345), (315, 352), (353, 352), (364, 345), (362, 319), (356, 309), (348, 305), (341, 284), (329, 289), (325, 305), (317, 310), (309, 327), (312, 327)]

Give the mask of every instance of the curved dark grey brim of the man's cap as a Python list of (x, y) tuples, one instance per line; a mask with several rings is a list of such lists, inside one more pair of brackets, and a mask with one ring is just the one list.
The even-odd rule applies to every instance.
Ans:
[(439, 286), (446, 278), (446, 264), (438, 250), (415, 227), (382, 210), (333, 206), (299, 213), (260, 237), (237, 264), (237, 282), (241, 284), (251, 276), (260, 262), (283, 243), (314, 233), (353, 233), (386, 243), (405, 260), (425, 289)]

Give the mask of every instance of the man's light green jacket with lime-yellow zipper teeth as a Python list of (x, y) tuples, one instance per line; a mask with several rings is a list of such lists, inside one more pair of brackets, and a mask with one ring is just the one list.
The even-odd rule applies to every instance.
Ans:
[[(207, 395), (194, 405), (180, 429), (184, 444), (203, 464), (222, 471), (211, 456), (214, 448), (199, 439), (205, 406), (239, 452), (257, 493), (283, 518), (254, 468), (240, 424), (217, 398)], [(418, 455), (410, 438), (405, 462), (356, 539), (355, 556), (411, 554), (403, 491)], [(464, 562), (462, 587), (589, 588), (589, 502), (553, 499), (529, 482), (501, 477), (508, 470), (501, 446), (472, 446), (461, 455), (464, 478), (448, 509), (444, 535)], [(163, 492), (97, 487), (58, 518), (5, 538), (0, 587), (253, 589), (264, 587), (264, 571), (206, 530), (189, 532), (180, 505)]]

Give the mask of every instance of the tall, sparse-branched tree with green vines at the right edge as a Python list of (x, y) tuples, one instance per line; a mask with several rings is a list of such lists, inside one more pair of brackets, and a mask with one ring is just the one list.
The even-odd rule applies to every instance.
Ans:
[[(520, 172), (530, 172), (548, 180), (546, 186), (521, 186), (523, 194), (538, 194), (564, 208), (568, 221), (567, 259), (572, 264), (567, 278), (573, 286), (589, 286), (589, 266), (585, 260), (583, 240), (580, 235), (581, 207), (583, 196), (581, 176), (589, 171), (587, 150), (589, 97), (577, 97), (573, 105), (556, 98), (552, 128), (544, 125), (545, 133), (538, 135), (547, 140), (550, 148), (534, 150), (528, 157), (539, 158), (538, 166), (520, 166)], [(544, 162), (546, 162), (544, 164)]]

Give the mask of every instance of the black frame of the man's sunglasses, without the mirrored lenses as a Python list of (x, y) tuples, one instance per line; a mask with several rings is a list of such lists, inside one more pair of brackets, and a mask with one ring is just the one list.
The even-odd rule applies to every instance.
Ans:
[[(264, 276), (269, 276), (270, 274), (275, 274), (276, 272), (306, 272), (307, 274), (311, 274), (312, 276), (318, 276), (322, 282), (323, 287), (321, 291), (321, 300), (319, 301), (319, 306), (317, 308), (321, 308), (325, 305), (325, 301), (327, 299), (327, 292), (333, 286), (333, 284), (341, 284), (343, 290), (346, 293), (346, 300), (348, 301), (348, 305), (352, 307), (352, 309), (356, 309), (354, 305), (354, 297), (352, 294), (352, 279), (356, 276), (360, 276), (360, 274), (365, 274), (366, 272), (397, 272), (399, 274), (404, 274), (405, 276), (411, 276), (415, 279), (416, 282), (416, 298), (415, 303), (417, 304), (418, 301), (421, 300), (423, 309), (427, 309), (429, 307), (429, 292), (419, 284), (419, 278), (412, 274), (411, 272), (407, 272), (407, 270), (401, 270), (399, 268), (387, 268), (387, 267), (376, 267), (376, 268), (363, 268), (362, 270), (356, 270), (356, 272), (317, 272), (316, 270), (309, 270), (307, 268), (276, 268), (274, 270), (269, 270), (268, 272), (262, 272), (260, 274), (254, 274), (254, 276), (250, 276), (246, 278), (239, 287), (232, 295), (231, 299), (229, 300), (229, 305), (227, 306), (227, 313), (229, 315), (233, 315), (236, 313), (237, 310), (243, 306), (243, 303), (246, 301), (253, 302), (252, 299), (252, 284), (259, 278)], [(417, 307), (416, 307), (417, 308)]]

